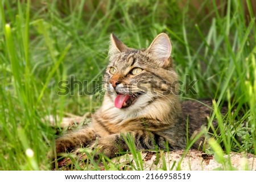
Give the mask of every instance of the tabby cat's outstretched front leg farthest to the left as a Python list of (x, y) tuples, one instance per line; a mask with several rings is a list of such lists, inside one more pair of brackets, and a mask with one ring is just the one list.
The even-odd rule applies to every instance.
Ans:
[(55, 140), (56, 153), (71, 152), (78, 147), (86, 147), (96, 140), (96, 133), (90, 127), (67, 133)]

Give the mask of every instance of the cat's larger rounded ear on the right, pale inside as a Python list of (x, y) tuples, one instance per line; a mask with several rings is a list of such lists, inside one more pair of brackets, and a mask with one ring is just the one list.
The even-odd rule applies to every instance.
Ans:
[(146, 52), (155, 59), (161, 67), (169, 64), (169, 57), (172, 52), (172, 45), (167, 34), (162, 33), (156, 36)]

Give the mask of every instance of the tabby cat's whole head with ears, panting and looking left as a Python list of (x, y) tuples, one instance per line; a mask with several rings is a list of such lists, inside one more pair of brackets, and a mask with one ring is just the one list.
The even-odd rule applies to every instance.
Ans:
[(128, 48), (112, 34), (105, 80), (113, 106), (136, 110), (156, 99), (170, 99), (177, 86), (170, 55), (166, 34), (159, 34), (145, 50)]

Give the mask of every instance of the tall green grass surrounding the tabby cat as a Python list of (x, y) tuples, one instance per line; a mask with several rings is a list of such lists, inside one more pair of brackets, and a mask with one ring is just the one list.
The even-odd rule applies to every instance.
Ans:
[[(191, 16), (191, 7), (181, 9), (176, 1), (1, 1), (0, 169), (51, 169), (46, 156), (55, 129), (47, 115), (59, 121), (67, 113), (83, 115), (97, 109), (102, 98), (80, 96), (77, 86), (70, 90), (73, 96), (59, 96), (58, 83), (74, 75), (92, 87), (107, 63), (111, 32), (136, 48), (167, 32), (180, 79), (199, 80), (199, 94), (181, 99), (216, 100), (209, 122), (217, 118), (221, 133), (206, 150), (220, 156), (256, 154), (255, 14), (250, 1), (249, 15), (241, 1), (228, 0), (225, 6), (204, 1), (199, 10), (209, 6), (208, 15)], [(222, 116), (224, 101), (229, 111)], [(137, 167), (125, 169), (143, 169), (141, 153), (131, 151)], [(105, 169), (119, 169), (105, 160)]]

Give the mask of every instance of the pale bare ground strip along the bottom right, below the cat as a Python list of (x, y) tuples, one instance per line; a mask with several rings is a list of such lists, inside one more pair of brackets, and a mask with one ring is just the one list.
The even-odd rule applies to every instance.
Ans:
[[(167, 170), (178, 169), (178, 163), (183, 157), (184, 151), (172, 151), (172, 152), (162, 152), (162, 154), (156, 155), (155, 152), (142, 152), (142, 157), (144, 160), (143, 168), (144, 170), (157, 170), (166, 166)], [(159, 159), (158, 156), (160, 155)], [(161, 156), (162, 155), (162, 156)], [(162, 159), (166, 159), (166, 164), (163, 164)], [(228, 155), (225, 156), (228, 158)], [(127, 154), (119, 159), (119, 162), (135, 162), (133, 161), (133, 156)], [(158, 162), (157, 162), (158, 161)], [(234, 170), (256, 170), (256, 156), (252, 154), (242, 154), (232, 152), (230, 154), (230, 161)], [(224, 170), (228, 168), (228, 164), (219, 164), (214, 159), (214, 156), (207, 155), (201, 151), (190, 150), (184, 159), (180, 163), (180, 169), (187, 171), (208, 171), (208, 170)]]

